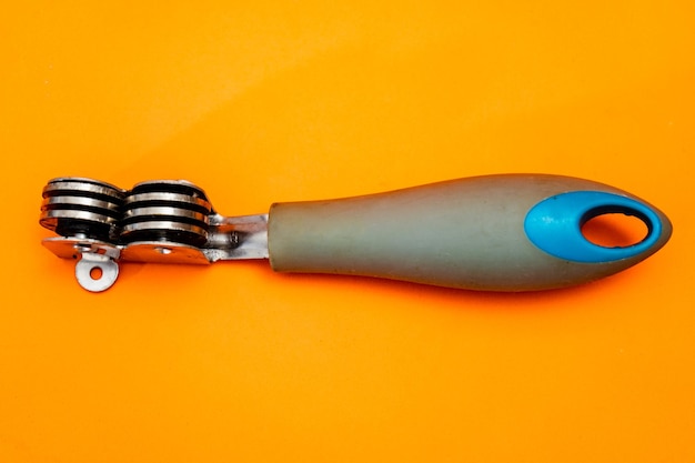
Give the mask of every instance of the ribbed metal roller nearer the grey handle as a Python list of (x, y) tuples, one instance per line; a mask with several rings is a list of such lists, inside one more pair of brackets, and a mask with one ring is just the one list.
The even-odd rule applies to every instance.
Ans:
[(202, 246), (212, 207), (200, 188), (177, 181), (137, 184), (125, 197), (121, 240), (163, 241)]

